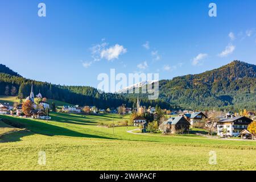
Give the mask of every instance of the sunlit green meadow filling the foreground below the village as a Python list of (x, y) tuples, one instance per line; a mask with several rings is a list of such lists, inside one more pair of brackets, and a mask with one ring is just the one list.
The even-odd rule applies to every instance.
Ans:
[[(28, 130), (0, 138), (0, 170), (255, 170), (256, 142), (184, 135), (138, 135), (99, 127), (129, 115), (51, 113), (49, 122), (0, 115)], [(1, 126), (0, 127), (5, 127)], [(39, 151), (46, 165), (38, 164)], [(209, 152), (217, 164), (209, 164)]]

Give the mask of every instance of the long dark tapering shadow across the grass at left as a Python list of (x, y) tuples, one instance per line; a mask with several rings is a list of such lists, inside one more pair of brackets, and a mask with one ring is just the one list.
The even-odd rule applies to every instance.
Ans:
[[(47, 136), (62, 135), (67, 137), (85, 137), (85, 138), (99, 138), (99, 139), (116, 139), (110, 137), (104, 137), (100, 135), (83, 134), (77, 131), (65, 129), (64, 127), (52, 125), (46, 121), (34, 121), (33, 119), (26, 118), (15, 118), (10, 116), (1, 116), (2, 118), (8, 119), (12, 122), (18, 122), (24, 125), (26, 129), (30, 130), (34, 134), (41, 134)], [(8, 135), (7, 135), (8, 136)]]

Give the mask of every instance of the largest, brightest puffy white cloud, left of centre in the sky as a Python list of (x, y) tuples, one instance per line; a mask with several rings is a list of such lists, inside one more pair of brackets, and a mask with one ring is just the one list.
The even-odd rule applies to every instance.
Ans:
[(103, 49), (101, 51), (101, 58), (105, 58), (106, 60), (114, 60), (118, 59), (119, 55), (126, 53), (127, 49), (119, 44), (115, 44), (115, 46)]

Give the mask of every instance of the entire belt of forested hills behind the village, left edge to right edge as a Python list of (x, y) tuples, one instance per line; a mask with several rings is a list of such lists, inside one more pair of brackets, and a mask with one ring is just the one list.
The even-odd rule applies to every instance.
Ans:
[[(5, 66), (4, 66), (5, 67)], [(6, 73), (9, 72), (9, 73)], [(16, 74), (16, 75), (15, 75)], [(26, 97), (32, 80), (23, 78), (9, 68), (0, 73), (0, 95)], [(100, 108), (126, 104), (133, 107), (138, 94), (99, 93), (90, 86), (62, 86), (33, 81), (34, 91), (44, 97), (79, 105)], [(140, 94), (141, 105), (158, 104), (166, 109), (240, 109), (256, 110), (256, 65), (233, 61), (218, 69), (197, 75), (159, 81), (159, 100), (147, 100)]]

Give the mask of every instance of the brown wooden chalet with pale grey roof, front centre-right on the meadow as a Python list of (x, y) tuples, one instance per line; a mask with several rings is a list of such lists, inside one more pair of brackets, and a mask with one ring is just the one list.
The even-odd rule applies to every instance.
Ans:
[(168, 119), (168, 121), (163, 122), (162, 125), (159, 126), (159, 130), (163, 131), (163, 133), (188, 133), (190, 123), (183, 116), (172, 117)]

